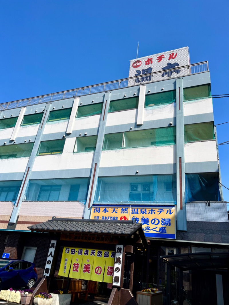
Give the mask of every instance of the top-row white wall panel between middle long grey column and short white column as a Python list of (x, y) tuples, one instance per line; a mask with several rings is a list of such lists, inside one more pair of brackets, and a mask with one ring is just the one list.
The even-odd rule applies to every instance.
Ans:
[(137, 121), (137, 109), (111, 112), (107, 115), (106, 126), (135, 123)]

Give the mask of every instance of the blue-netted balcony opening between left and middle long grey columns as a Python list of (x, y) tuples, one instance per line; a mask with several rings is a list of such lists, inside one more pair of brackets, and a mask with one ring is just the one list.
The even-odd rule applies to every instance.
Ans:
[(85, 201), (89, 178), (30, 180), (27, 201)]

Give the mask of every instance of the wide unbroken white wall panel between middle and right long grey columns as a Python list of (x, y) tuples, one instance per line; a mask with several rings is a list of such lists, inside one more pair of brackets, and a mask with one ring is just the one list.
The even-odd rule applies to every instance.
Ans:
[(175, 163), (176, 146), (141, 147), (103, 151), (100, 167)]

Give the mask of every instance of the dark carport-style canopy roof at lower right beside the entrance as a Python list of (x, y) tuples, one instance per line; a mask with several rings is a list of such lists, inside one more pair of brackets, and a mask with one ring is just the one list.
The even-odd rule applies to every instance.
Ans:
[(161, 256), (165, 263), (182, 270), (228, 268), (229, 252), (201, 252)]

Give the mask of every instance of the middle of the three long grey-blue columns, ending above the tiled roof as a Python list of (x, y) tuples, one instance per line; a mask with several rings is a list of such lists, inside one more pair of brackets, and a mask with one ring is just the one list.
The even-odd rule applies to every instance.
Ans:
[(100, 158), (101, 158), (103, 140), (104, 140), (104, 134), (105, 134), (105, 128), (106, 128), (107, 114), (108, 114), (108, 109), (109, 109), (109, 105), (110, 105), (110, 97), (111, 97), (111, 92), (106, 92), (104, 95), (103, 110), (102, 110), (100, 123), (99, 123), (99, 133), (98, 133), (96, 149), (95, 149), (94, 158), (93, 158), (92, 173), (91, 173), (88, 196), (87, 196), (86, 207), (85, 207), (85, 212), (84, 212), (85, 219), (90, 218), (91, 206), (93, 204), (94, 197), (95, 197), (96, 185), (97, 185), (97, 179), (98, 179), (98, 173), (99, 173)]

